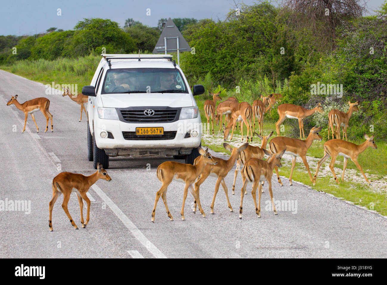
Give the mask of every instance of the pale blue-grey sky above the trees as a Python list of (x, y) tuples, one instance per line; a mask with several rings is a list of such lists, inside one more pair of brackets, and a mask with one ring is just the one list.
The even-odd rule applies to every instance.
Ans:
[[(384, 1), (368, 0), (367, 5), (375, 10)], [(251, 5), (255, 1), (235, 2)], [(277, 1), (272, 2), (276, 5)], [(120, 26), (133, 18), (151, 27), (157, 26), (160, 18), (169, 17), (224, 20), (235, 4), (234, 0), (0, 0), (0, 7), (0, 35), (19, 36), (42, 33), (50, 27), (74, 29), (83, 18), (110, 19)]]

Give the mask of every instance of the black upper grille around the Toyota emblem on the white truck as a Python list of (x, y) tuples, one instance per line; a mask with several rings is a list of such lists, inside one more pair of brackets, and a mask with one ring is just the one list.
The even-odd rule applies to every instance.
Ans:
[(176, 120), (178, 109), (154, 110), (152, 116), (146, 116), (144, 110), (121, 109), (121, 115), (127, 123), (170, 123)]

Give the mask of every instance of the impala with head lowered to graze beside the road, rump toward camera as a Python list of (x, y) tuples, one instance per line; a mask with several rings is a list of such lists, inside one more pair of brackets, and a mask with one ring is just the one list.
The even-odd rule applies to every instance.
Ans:
[[(235, 126), (236, 126), (237, 121), (241, 122), (241, 135), (242, 135), (241, 141), (243, 142), (243, 123), (245, 123), (246, 127), (247, 127), (247, 140), (246, 140), (246, 142), (248, 142), (249, 131), (251, 131), (251, 140), (253, 140), (252, 130), (250, 130), (250, 128), (252, 127), (252, 124), (251, 124), (252, 111), (253, 110), (252, 110), (251, 105), (248, 104), (247, 102), (242, 102), (238, 105), (235, 105), (235, 108), (231, 111), (232, 124), (230, 122), (227, 125), (227, 128), (223, 124), (224, 140), (228, 139), (228, 135), (230, 133), (231, 128), (233, 130), (231, 131), (230, 141), (233, 139), (233, 134), (234, 134), (234, 130), (235, 130)], [(248, 121), (250, 121), (250, 124), (248, 123)]]

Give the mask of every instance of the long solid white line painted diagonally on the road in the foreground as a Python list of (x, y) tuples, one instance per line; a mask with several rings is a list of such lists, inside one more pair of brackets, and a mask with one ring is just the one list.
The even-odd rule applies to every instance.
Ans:
[(98, 194), (98, 196), (109, 206), (111, 211), (122, 221), (122, 223), (130, 230), (137, 240), (146, 247), (151, 254), (156, 258), (167, 258), (154, 244), (148, 240), (145, 235), (137, 228), (137, 226), (130, 221), (130, 219), (117, 207), (116, 204), (99, 188), (97, 185), (92, 185), (91, 188)]

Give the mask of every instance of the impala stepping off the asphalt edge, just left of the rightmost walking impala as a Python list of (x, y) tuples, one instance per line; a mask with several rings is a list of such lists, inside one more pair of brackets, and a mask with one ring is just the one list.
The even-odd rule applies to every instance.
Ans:
[[(319, 135), (319, 131), (321, 131), (321, 128), (322, 127), (319, 127), (319, 128), (313, 127), (312, 130), (310, 130), (306, 140), (299, 140), (298, 138), (288, 138), (286, 136), (276, 136), (275, 138), (272, 138), (272, 140), (270, 141), (269, 150), (271, 153), (275, 154), (277, 152), (280, 152), (286, 149), (285, 154), (293, 155), (290, 177), (289, 177), (289, 185), (293, 185), (292, 176), (293, 176), (293, 170), (296, 166), (297, 156), (301, 157), (305, 167), (308, 170), (310, 181), (312, 181), (313, 185), (315, 185), (315, 181), (312, 178), (312, 174), (310, 174), (309, 164), (307, 162), (307, 152), (310, 146), (312, 145), (313, 140), (322, 140), (322, 136)], [(282, 184), (281, 179), (279, 178), (278, 168), (275, 167), (275, 169), (276, 169), (278, 183), (281, 184), (281, 186), (284, 186)]]

